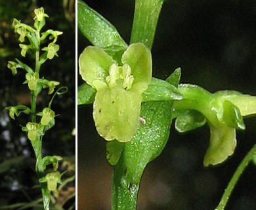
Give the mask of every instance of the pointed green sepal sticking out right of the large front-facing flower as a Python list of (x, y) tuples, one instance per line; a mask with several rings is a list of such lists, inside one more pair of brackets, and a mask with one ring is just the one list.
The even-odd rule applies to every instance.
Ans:
[(142, 93), (142, 102), (181, 99), (182, 95), (177, 88), (167, 81), (154, 77), (152, 77), (148, 89)]

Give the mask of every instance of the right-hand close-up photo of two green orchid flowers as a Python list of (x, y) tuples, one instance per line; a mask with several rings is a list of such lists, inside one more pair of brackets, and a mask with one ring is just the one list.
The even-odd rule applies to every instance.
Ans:
[(256, 2), (77, 0), (77, 208), (256, 209)]

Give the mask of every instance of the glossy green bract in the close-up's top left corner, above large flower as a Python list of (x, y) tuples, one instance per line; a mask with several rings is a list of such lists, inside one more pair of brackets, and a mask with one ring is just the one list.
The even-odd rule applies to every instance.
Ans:
[(127, 48), (116, 28), (81, 0), (77, 1), (77, 26), (96, 47)]

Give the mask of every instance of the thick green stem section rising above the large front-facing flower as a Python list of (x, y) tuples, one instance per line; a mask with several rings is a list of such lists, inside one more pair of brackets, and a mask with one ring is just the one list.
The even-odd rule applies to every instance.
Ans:
[(141, 42), (152, 48), (156, 26), (163, 0), (137, 0), (135, 1), (135, 14), (130, 43)]

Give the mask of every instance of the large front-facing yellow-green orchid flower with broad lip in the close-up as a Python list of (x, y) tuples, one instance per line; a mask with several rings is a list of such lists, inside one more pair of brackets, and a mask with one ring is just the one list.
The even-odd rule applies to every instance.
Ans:
[(119, 65), (98, 47), (87, 47), (79, 57), (79, 73), (96, 89), (93, 117), (105, 140), (129, 142), (139, 127), (142, 93), (152, 78), (150, 51), (142, 43), (130, 45)]

